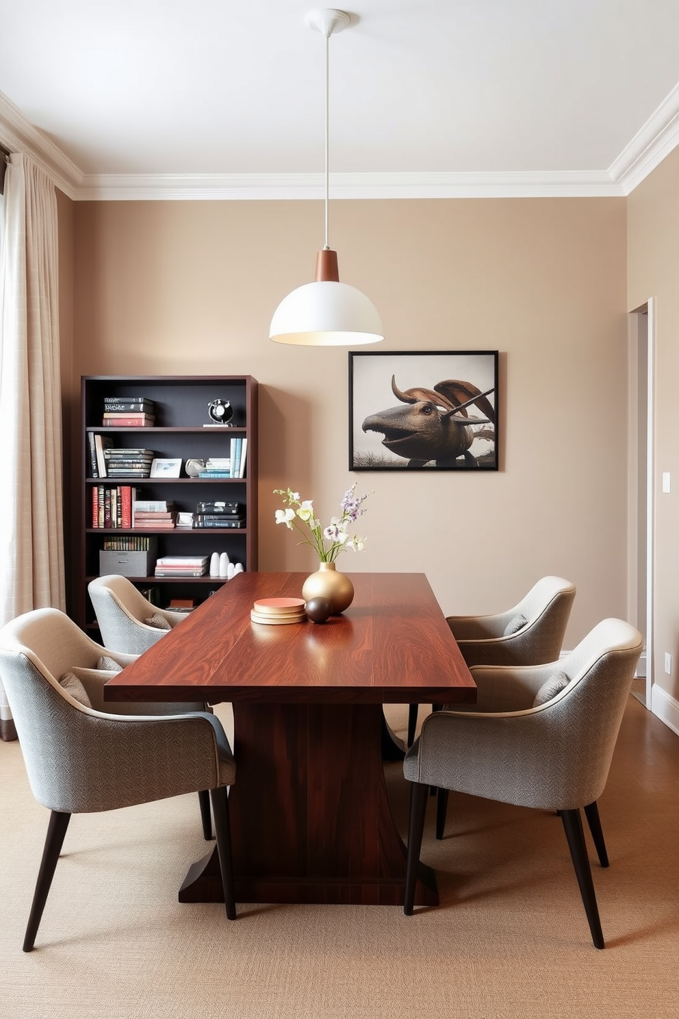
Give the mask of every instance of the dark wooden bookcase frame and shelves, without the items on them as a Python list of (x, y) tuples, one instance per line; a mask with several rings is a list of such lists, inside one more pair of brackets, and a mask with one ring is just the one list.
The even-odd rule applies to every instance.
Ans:
[[(153, 425), (103, 425), (105, 398), (114, 397), (124, 404), (145, 397), (152, 401)], [(209, 425), (208, 405), (216, 399), (228, 400), (233, 408), (233, 424)], [(123, 412), (121, 412), (123, 413)], [(125, 412), (127, 413), (127, 412)], [(133, 412), (129, 412), (131, 415)], [(96, 631), (94, 609), (88, 595), (88, 584), (100, 575), (99, 553), (111, 538), (151, 538), (152, 552), (157, 555), (212, 555), (227, 552), (232, 562), (241, 562), (246, 571), (258, 568), (257, 541), (257, 477), (258, 477), (258, 383), (250, 375), (88, 375), (81, 378), (81, 498), (80, 541), (77, 577), (73, 583), (73, 614), (80, 627)], [(207, 427), (204, 427), (206, 425)], [(138, 477), (128, 474), (116, 477), (93, 476), (97, 461), (92, 442), (101, 436), (103, 445), (115, 450), (150, 449), (157, 459), (181, 460), (181, 474), (173, 477)], [(187, 460), (228, 458), (232, 439), (246, 439), (245, 472), (237, 478), (192, 478), (185, 474)], [(94, 461), (94, 463), (93, 463)], [(101, 469), (98, 469), (101, 474)], [(111, 498), (110, 490), (115, 489)], [(199, 502), (234, 501), (243, 507), (245, 525), (241, 528), (221, 527), (120, 527), (93, 526), (93, 498), (99, 496), (106, 504), (116, 499), (133, 498), (123, 489), (131, 489), (137, 499), (173, 502), (178, 512), (194, 513)], [(108, 495), (107, 495), (108, 492)], [(109, 512), (108, 508), (104, 511)], [(100, 522), (103, 523), (100, 511)], [(120, 509), (118, 509), (120, 514)], [(117, 520), (120, 524), (120, 519)], [(155, 577), (153, 562), (150, 576), (128, 579), (147, 595), (152, 590), (157, 602), (165, 607), (170, 598), (193, 598), (196, 603), (226, 583), (224, 578)], [(122, 568), (121, 568), (122, 572)]]

